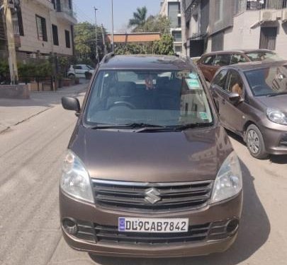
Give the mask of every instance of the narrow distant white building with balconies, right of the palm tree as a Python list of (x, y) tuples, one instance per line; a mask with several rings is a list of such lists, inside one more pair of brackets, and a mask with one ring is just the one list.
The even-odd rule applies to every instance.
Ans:
[(174, 51), (182, 52), (181, 0), (162, 0), (159, 12), (171, 21), (171, 35), (174, 37)]

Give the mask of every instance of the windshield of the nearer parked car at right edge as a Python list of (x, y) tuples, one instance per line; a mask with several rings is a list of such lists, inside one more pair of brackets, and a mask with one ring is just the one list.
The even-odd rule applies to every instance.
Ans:
[(255, 96), (287, 94), (287, 64), (246, 71), (245, 76)]

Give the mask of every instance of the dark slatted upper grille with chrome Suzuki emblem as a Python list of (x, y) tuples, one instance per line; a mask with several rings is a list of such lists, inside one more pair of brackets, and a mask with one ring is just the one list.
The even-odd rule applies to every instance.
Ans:
[(213, 181), (116, 182), (93, 179), (97, 205), (123, 211), (164, 212), (201, 208), (208, 204)]

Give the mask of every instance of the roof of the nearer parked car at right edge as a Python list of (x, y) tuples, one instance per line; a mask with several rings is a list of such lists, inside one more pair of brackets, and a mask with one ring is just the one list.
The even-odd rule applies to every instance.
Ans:
[(257, 69), (264, 69), (272, 66), (287, 66), (287, 60), (282, 61), (251, 61), (247, 63), (232, 64), (228, 66), (223, 66), (222, 69), (235, 69), (239, 71), (250, 71)]

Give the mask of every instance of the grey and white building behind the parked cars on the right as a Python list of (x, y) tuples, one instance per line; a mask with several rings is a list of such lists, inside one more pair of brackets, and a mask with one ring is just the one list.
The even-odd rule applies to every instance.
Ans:
[(287, 59), (287, 0), (182, 1), (189, 56), (262, 48)]

